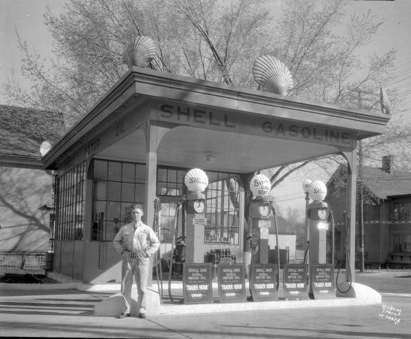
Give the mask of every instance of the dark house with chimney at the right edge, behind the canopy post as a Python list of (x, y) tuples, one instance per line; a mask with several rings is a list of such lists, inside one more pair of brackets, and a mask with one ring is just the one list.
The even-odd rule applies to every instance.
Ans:
[[(411, 173), (394, 169), (394, 157), (384, 156), (382, 167), (362, 167), (364, 262), (366, 265), (411, 266)], [(327, 183), (325, 199), (334, 212), (336, 260), (344, 259), (345, 190), (338, 178), (347, 169), (341, 166)], [(358, 189), (358, 194), (359, 194)], [(360, 266), (360, 196), (356, 208), (356, 266)]]

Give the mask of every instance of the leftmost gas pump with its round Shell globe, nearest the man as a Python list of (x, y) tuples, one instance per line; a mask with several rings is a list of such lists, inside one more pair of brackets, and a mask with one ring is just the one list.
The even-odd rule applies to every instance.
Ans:
[(206, 172), (199, 168), (187, 172), (184, 183), (188, 189), (186, 197), (186, 263), (202, 263), (204, 260), (204, 226), (206, 226), (206, 196), (208, 186)]

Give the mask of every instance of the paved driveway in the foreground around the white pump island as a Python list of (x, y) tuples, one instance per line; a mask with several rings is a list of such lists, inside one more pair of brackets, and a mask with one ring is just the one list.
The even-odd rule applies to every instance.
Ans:
[(252, 311), (169, 314), (147, 319), (94, 316), (94, 306), (115, 291), (3, 289), (0, 336), (411, 338), (410, 278), (410, 270), (356, 274), (356, 283), (368, 284), (382, 293), (382, 303), (374, 305), (306, 308), (301, 304), (293, 309), (261, 307)]

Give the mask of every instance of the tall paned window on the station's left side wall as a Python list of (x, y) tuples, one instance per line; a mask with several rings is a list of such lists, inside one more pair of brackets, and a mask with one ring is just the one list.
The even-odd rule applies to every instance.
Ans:
[(83, 239), (85, 183), (86, 162), (80, 163), (58, 178), (55, 239)]

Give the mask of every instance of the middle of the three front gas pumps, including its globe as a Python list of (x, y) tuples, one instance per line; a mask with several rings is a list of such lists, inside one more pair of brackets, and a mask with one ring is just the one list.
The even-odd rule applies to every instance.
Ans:
[[(269, 263), (269, 227), (271, 227), (271, 183), (263, 174), (253, 176), (250, 189), (255, 197), (251, 203), (251, 242), (255, 250), (252, 251), (252, 264)], [(258, 245), (258, 246), (256, 246)]]

